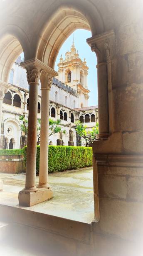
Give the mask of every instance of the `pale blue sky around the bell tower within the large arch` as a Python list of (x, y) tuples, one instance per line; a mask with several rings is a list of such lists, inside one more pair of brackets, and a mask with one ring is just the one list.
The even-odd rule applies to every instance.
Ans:
[[(91, 37), (91, 32), (84, 29), (77, 29), (74, 31), (74, 45), (76, 50), (78, 50), (79, 57), (81, 60), (86, 58), (87, 66), (89, 67), (88, 74), (88, 88), (91, 91), (89, 93), (89, 106), (98, 105), (98, 95), (97, 95), (97, 59), (96, 54), (91, 51), (89, 45), (86, 43), (86, 39)], [(59, 63), (59, 58), (61, 54), (63, 58), (65, 57), (65, 53), (67, 50), (70, 51), (73, 34), (67, 38), (67, 40), (62, 45), (59, 54), (57, 56), (57, 60), (55, 63), (54, 69), (57, 70), (57, 63)]]

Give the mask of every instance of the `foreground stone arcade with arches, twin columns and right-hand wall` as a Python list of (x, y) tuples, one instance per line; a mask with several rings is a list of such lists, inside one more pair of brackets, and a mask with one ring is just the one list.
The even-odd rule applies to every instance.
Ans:
[[(53, 196), (47, 175), (47, 131), (49, 90), (52, 77), (57, 76), (54, 64), (60, 47), (74, 30), (91, 30), (87, 43), (97, 56), (99, 102), (99, 138), (93, 143), (95, 217), (90, 242), (88, 238), (80, 242), (85, 247), (88, 243), (90, 253), (97, 255), (133, 255), (135, 243), (141, 246), (143, 237), (143, 3), (58, 0), (41, 5), (36, 0), (26, 6), (23, 2), (20, 8), (17, 0), (9, 6), (5, 2), (0, 23), (0, 113), (4, 95), (10, 90), (12, 63), (22, 51), (25, 61), (21, 66), (27, 70), (30, 84), (27, 172), (25, 188), (19, 192), (20, 205), (34, 205)], [(11, 10), (9, 25), (5, 13)], [(22, 15), (20, 20), (17, 12)], [(39, 80), (41, 144), (36, 187)], [(64, 118), (65, 112), (61, 116)], [(72, 228), (69, 230), (72, 233)]]

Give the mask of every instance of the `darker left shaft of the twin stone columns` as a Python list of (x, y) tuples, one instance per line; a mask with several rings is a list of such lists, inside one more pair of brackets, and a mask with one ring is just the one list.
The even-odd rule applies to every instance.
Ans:
[(35, 190), (38, 83), (30, 83), (25, 189)]

